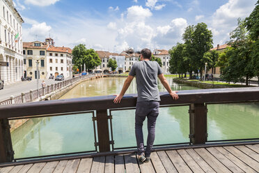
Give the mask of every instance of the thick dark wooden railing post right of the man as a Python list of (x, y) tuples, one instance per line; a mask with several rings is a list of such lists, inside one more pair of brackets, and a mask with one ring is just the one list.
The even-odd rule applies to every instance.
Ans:
[(207, 142), (207, 106), (204, 103), (190, 105), (189, 123), (191, 144), (205, 144)]

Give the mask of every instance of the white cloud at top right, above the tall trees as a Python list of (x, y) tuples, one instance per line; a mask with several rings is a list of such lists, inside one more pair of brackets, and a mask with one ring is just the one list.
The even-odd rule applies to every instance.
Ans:
[(223, 44), (229, 40), (229, 33), (237, 27), (237, 18), (249, 16), (256, 0), (229, 0), (212, 15), (212, 33), (217, 36), (214, 44)]

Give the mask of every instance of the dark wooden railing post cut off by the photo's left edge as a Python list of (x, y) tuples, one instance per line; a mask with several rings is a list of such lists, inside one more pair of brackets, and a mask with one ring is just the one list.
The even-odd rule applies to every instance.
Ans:
[(0, 163), (13, 161), (14, 152), (8, 119), (0, 119)]

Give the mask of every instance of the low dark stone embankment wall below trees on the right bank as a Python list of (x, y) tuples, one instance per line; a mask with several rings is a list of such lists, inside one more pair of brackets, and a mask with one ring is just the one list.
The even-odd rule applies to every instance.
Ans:
[(198, 81), (188, 81), (188, 80), (182, 80), (182, 79), (173, 79), (173, 82), (179, 83), (179, 84), (187, 84), (192, 87), (198, 87), (201, 89), (223, 89), (223, 88), (229, 88), (230, 86), (221, 85), (221, 84), (206, 84)]

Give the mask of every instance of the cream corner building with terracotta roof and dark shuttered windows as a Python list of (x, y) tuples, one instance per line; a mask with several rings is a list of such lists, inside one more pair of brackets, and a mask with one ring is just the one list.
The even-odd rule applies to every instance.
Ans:
[[(72, 77), (72, 50), (69, 47), (56, 47), (52, 38), (45, 42), (24, 43), (25, 77), (46, 80), (50, 76)], [(38, 73), (37, 73), (38, 63)]]

